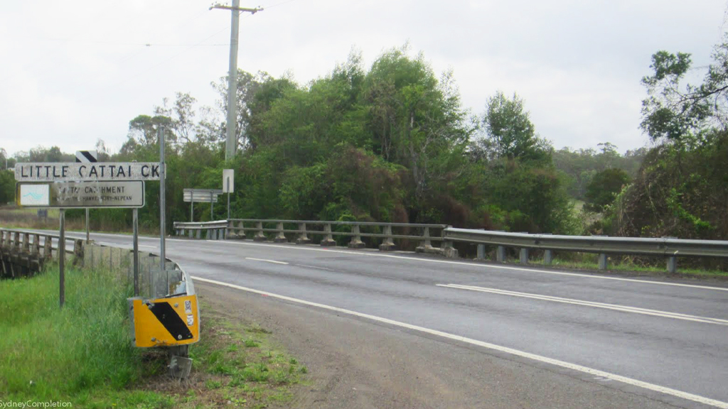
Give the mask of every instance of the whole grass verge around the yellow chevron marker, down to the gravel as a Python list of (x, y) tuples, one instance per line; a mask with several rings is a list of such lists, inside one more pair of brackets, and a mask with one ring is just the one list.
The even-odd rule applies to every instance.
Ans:
[(306, 367), (270, 332), (229, 322), (204, 301), (189, 379), (166, 376), (163, 349), (131, 346), (130, 288), (108, 271), (58, 268), (0, 281), (0, 402), (70, 402), (74, 408), (266, 408), (293, 398)]

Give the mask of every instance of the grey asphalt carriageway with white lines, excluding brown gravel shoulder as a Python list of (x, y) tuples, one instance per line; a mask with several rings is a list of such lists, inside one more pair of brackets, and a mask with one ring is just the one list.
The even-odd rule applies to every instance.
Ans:
[[(92, 236), (131, 246), (128, 236)], [(154, 251), (159, 239), (140, 243)], [(728, 288), (720, 282), (250, 241), (167, 239), (167, 257), (199, 282), (328, 314), (317, 319), (365, 322), (373, 338), (404, 331), (400, 342), (413, 348), (427, 338), (462, 367), (454, 376), (469, 389), (459, 393), (482, 393), (472, 374), (487, 368), (462, 359), (475, 351), (525, 365), (535, 384), (541, 376), (541, 384), (560, 385), (550, 379), (559, 374), (655, 407), (728, 408)], [(615, 404), (597, 395), (593, 407)]]

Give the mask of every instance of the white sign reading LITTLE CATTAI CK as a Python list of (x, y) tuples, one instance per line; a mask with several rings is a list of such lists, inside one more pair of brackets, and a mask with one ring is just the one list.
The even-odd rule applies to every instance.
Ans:
[(159, 162), (50, 162), (15, 164), (18, 182), (159, 180)]

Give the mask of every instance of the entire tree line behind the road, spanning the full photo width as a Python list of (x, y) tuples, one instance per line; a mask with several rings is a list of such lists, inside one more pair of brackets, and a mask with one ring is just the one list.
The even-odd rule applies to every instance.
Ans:
[[(225, 77), (212, 84), (218, 106), (199, 107), (178, 92), (130, 120), (118, 153), (110, 154), (103, 141), (97, 148), (102, 159), (154, 161), (164, 127), (170, 221), (189, 220), (183, 188), (220, 188), (223, 168), (232, 167), (237, 218), (724, 238), (727, 49), (716, 48), (716, 63), (699, 86), (681, 83), (689, 55), (653, 56), (654, 74), (643, 80), (648, 98), (641, 126), (654, 147), (624, 155), (611, 143), (555, 151), (515, 94), (496, 92), (472, 115), (452, 73), (437, 75), (406, 47), (384, 52), (369, 68), (352, 53), (305, 85), (239, 71), (239, 154), (227, 163)], [(53, 147), (13, 160), (73, 158)], [(148, 183), (141, 220), (149, 226), (158, 223), (157, 190)], [(578, 218), (574, 200), (585, 202), (582, 215), (596, 217)], [(226, 214), (222, 202), (215, 218)], [(195, 220), (210, 218), (207, 205), (195, 210)], [(127, 213), (104, 210), (98, 217), (128, 223)]]

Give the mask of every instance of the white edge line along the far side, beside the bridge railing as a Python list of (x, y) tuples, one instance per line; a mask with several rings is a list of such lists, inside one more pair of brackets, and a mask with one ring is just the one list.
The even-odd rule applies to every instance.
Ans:
[[(180, 241), (189, 242), (189, 240), (180, 240)], [(671, 286), (675, 286), (675, 287), (700, 288), (702, 290), (728, 291), (728, 287), (711, 287), (708, 285), (682, 284), (679, 282), (649, 281), (649, 280), (644, 280), (644, 279), (598, 276), (598, 275), (593, 275), (593, 274), (567, 273), (565, 271), (524, 269), (521, 267), (511, 267), (511, 266), (491, 266), (488, 264), (464, 263), (462, 261), (436, 260), (436, 259), (432, 259), (432, 258), (403, 257), (401, 255), (368, 253), (368, 252), (363, 252), (363, 251), (356, 252), (356, 251), (345, 251), (345, 250), (329, 250), (329, 249), (306, 248), (306, 247), (298, 247), (298, 246), (269, 245), (269, 244), (260, 244), (260, 243), (227, 242), (227, 241), (220, 241), (220, 240), (206, 240), (206, 241), (214, 242), (214, 243), (222, 242), (223, 244), (226, 244), (226, 245), (245, 245), (245, 246), (259, 246), (259, 247), (277, 247), (277, 248), (285, 248), (288, 250), (323, 251), (326, 253), (343, 253), (343, 254), (348, 254), (348, 255), (362, 255), (362, 256), (369, 256), (369, 257), (399, 258), (399, 259), (403, 259), (403, 260), (422, 261), (422, 262), (426, 262), (426, 263), (454, 264), (457, 266), (469, 266), (469, 267), (479, 268), (479, 269), (502, 269), (502, 270), (515, 270), (515, 271), (529, 271), (529, 272), (533, 272), (533, 273), (554, 274), (554, 275), (571, 276), (571, 277), (586, 277), (586, 278), (593, 278), (593, 279), (613, 279), (613, 280), (617, 280), (617, 281), (638, 282), (640, 284), (671, 285)]]

